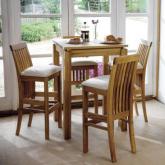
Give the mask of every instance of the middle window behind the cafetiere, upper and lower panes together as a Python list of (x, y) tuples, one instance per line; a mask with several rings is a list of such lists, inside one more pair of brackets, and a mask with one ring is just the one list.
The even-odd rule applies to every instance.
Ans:
[(111, 33), (110, 0), (74, 0), (73, 8), (74, 34), (80, 35), (84, 22), (89, 28), (90, 40), (103, 39)]

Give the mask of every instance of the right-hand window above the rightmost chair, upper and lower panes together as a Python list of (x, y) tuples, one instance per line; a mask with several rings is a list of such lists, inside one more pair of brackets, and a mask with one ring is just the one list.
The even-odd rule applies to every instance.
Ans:
[(148, 0), (126, 0), (126, 43), (136, 50), (140, 39), (148, 39)]

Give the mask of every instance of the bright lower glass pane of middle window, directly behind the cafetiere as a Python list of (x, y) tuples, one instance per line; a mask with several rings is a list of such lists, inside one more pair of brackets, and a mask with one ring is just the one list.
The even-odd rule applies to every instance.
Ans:
[[(97, 25), (93, 21), (97, 21)], [(75, 19), (75, 34), (80, 35), (83, 23), (86, 22), (89, 28), (90, 41), (95, 39), (95, 26), (96, 26), (96, 39), (104, 40), (106, 35), (111, 33), (111, 18), (110, 17), (77, 17)], [(104, 29), (104, 30), (103, 30)]]

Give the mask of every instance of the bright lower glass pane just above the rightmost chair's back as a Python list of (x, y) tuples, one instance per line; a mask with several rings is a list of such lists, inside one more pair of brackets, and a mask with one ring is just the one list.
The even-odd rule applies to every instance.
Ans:
[(137, 50), (140, 39), (148, 38), (148, 18), (147, 17), (127, 17), (126, 18), (126, 43), (129, 50)]

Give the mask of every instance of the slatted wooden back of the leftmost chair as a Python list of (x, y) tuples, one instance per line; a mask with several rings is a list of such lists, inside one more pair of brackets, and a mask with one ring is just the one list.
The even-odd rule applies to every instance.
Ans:
[(10, 48), (16, 65), (17, 75), (19, 76), (22, 71), (32, 66), (32, 60), (25, 42), (11, 45)]

